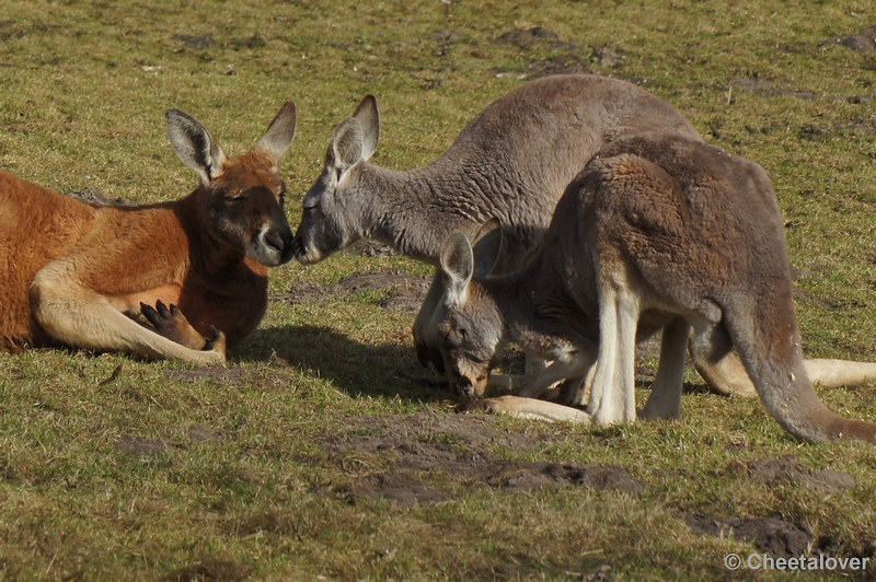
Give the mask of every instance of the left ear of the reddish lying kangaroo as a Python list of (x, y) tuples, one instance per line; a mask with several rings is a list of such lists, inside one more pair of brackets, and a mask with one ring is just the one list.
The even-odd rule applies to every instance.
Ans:
[(197, 119), (180, 109), (168, 109), (168, 136), (176, 155), (209, 186), (222, 173), (226, 154)]

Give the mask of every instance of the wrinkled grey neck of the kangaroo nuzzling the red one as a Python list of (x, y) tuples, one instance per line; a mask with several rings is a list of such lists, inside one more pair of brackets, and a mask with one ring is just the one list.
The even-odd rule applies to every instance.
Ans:
[(362, 164), (359, 173), (359, 190), (369, 198), (362, 235), (435, 266), (448, 234), (472, 234), (488, 218), (460, 195), (466, 187), (456, 173), (436, 162), (404, 172)]

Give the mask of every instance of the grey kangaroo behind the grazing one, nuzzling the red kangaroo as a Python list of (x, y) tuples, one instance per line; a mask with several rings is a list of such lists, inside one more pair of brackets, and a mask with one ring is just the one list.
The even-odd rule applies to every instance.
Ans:
[[(296, 257), (312, 264), (359, 238), (373, 238), (437, 267), (451, 232), (473, 234), (496, 218), (503, 251), (494, 273), (511, 272), (540, 246), (560, 197), (596, 152), (646, 131), (702, 141), (681, 113), (636, 85), (596, 75), (548, 77), (488, 105), (437, 160), (394, 172), (368, 162), (380, 135), (377, 100), (368, 95), (335, 130), (323, 172), (304, 196)], [(433, 322), (440, 298), (436, 270), (414, 338), (420, 362), (443, 370)], [(714, 392), (757, 397), (733, 354), (712, 361), (696, 349), (695, 366)], [(876, 377), (876, 364), (812, 360), (807, 365), (825, 386)]]

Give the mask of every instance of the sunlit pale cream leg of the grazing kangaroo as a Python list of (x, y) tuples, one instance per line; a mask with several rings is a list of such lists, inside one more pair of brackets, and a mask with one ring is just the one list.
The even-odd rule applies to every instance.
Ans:
[(638, 298), (624, 283), (599, 288), (599, 357), (587, 412), (595, 424), (633, 421)]

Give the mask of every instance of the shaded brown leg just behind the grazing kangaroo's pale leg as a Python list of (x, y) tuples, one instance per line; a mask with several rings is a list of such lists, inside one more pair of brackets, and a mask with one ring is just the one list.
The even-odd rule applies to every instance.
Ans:
[(681, 418), (684, 358), (690, 335), (691, 326), (683, 317), (673, 318), (664, 328), (657, 377), (654, 379), (650, 396), (639, 415), (642, 418)]

